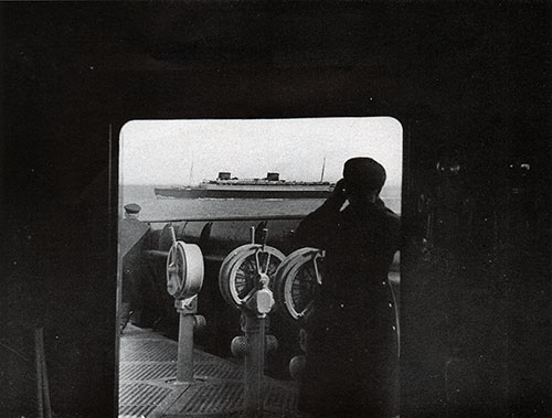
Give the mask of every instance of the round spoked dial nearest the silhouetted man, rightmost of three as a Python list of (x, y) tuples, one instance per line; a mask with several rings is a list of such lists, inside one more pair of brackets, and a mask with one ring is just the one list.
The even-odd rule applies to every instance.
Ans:
[(307, 315), (322, 283), (323, 251), (300, 248), (291, 253), (278, 267), (275, 279), (275, 299), (294, 321)]

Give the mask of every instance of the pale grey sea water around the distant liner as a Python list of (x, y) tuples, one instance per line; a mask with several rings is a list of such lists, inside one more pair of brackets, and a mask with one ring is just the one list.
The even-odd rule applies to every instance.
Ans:
[[(128, 203), (141, 206), (140, 219), (163, 221), (200, 216), (304, 216), (323, 203), (323, 199), (162, 199), (155, 185), (120, 187), (121, 207)], [(381, 194), (385, 205), (401, 213), (401, 189), (386, 186)]]

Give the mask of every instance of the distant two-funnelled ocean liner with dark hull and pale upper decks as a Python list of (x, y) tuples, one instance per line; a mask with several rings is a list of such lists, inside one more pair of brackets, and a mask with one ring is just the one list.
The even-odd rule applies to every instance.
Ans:
[(198, 186), (156, 187), (157, 197), (166, 199), (326, 199), (333, 191), (326, 181), (286, 181), (279, 173), (264, 179), (236, 179), (220, 172), (216, 180), (202, 181)]

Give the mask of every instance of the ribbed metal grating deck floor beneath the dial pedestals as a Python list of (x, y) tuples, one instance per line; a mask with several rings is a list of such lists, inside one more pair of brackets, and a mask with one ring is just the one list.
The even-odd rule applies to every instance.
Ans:
[[(174, 384), (177, 342), (127, 325), (120, 339), (119, 418), (237, 418), (242, 366), (194, 350), (193, 384)], [(266, 378), (265, 418), (300, 418), (294, 382)]]

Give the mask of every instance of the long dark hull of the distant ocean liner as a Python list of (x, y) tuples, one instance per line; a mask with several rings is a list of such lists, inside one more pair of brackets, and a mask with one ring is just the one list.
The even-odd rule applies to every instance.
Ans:
[(168, 199), (326, 199), (330, 190), (213, 190), (156, 187), (156, 196)]

